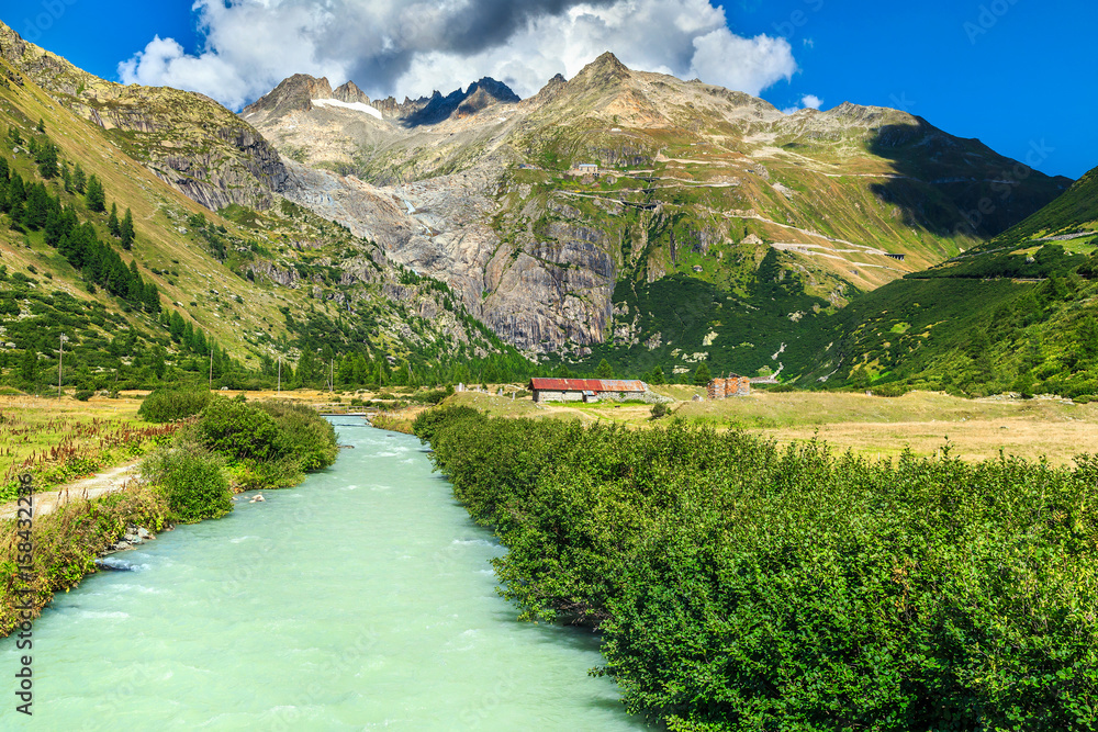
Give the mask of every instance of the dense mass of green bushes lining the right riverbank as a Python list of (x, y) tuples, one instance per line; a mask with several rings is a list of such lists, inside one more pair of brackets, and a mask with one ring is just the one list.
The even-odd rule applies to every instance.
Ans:
[[(471, 412), (471, 410), (470, 410)], [(898, 462), (672, 423), (417, 418), (526, 619), (671, 730), (1098, 727), (1098, 458)]]

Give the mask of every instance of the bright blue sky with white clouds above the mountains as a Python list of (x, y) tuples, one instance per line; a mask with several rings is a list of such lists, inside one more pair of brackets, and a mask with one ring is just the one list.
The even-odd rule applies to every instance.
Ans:
[[(529, 37), (516, 30), (537, 20), (537, 10), (501, 24), (498, 5), (489, 8), (489, 0), (470, 3), (486, 9), (483, 16), (470, 16), (470, 35), (456, 38), (445, 27), (421, 29), (418, 40), (401, 49), (403, 55), (385, 57), (362, 57), (360, 49), (370, 45), (362, 36), (397, 18), (402, 3), (396, 0), (337, 0), (337, 5), (352, 9), (348, 18), (354, 15), (355, 22), (336, 18), (320, 30), (315, 16), (302, 15), (303, 9), (324, 4), (318, 0), (270, 3), (281, 4), (283, 14), (268, 13), (257, 0), (234, 0), (229, 10), (220, 0), (199, 0), (195, 7), (205, 7), (198, 10), (192, 10), (191, 0), (8, 0), (0, 19), (29, 41), (112, 80), (120, 80), (121, 63), (145, 52), (146, 60), (157, 63), (136, 65), (133, 76), (138, 80), (195, 88), (234, 108), (293, 71), (324, 74), (333, 81), (354, 78), (368, 92), (399, 95), (429, 93), (432, 83), (445, 92), (491, 74), (518, 86), (519, 93), (529, 93), (550, 71), (569, 76), (589, 60), (585, 55), (606, 44), (630, 66), (697, 75), (747, 91), (761, 88), (761, 95), (780, 109), (803, 105), (809, 95), (821, 100), (821, 109), (842, 101), (901, 108), (954, 135), (978, 137), (1004, 155), (1018, 159), (1038, 155), (1034, 167), (1051, 174), (1077, 178), (1098, 166), (1094, 133), (1098, 58), (1093, 42), (1098, 3), (729, 0), (721, 8), (688, 0), (679, 7), (690, 5), (695, 16), (704, 19), (697, 29), (684, 31), (676, 46), (660, 43), (668, 35), (668, 24), (660, 20), (665, 15), (660, 13), (671, 12), (674, 3), (635, 0), (631, 15), (617, 16), (615, 7), (623, 2), (601, 0), (602, 14), (595, 23), (586, 22), (591, 20), (586, 15), (573, 18), (561, 31), (567, 31), (568, 41), (561, 45), (571, 50), (561, 50), (560, 57), (553, 56), (552, 38), (531, 49)], [(648, 10), (636, 12), (638, 5)], [(289, 14), (291, 10), (298, 14)], [(478, 22), (493, 23), (484, 35), (494, 34), (494, 41), (483, 49), (470, 47), (470, 37), (478, 37)], [(630, 22), (647, 26), (630, 27)], [(292, 35), (285, 42), (272, 31), (294, 23), (301, 37), (315, 46), (294, 43)], [(714, 33), (714, 23), (721, 24), (724, 35)], [(455, 25), (446, 18), (441, 24)], [(662, 27), (653, 27), (658, 25)], [(592, 31), (595, 26), (602, 30)], [(541, 31), (534, 37), (563, 26), (538, 27)], [(249, 29), (258, 30), (249, 37)], [(653, 31), (661, 35), (652, 36)], [(722, 66), (715, 66), (712, 55), (705, 64), (688, 57), (705, 34), (716, 40), (716, 48), (726, 49)], [(787, 52), (773, 44), (748, 44), (761, 34), (772, 41), (784, 38)], [(157, 36), (175, 40), (178, 47), (154, 49), (149, 43)], [(267, 46), (257, 43), (264, 38)], [(439, 57), (433, 53), (436, 47), (445, 47), (448, 55)], [(202, 56), (203, 52), (212, 53)], [(783, 53), (792, 54), (792, 60), (783, 61)], [(750, 66), (749, 61), (771, 66), (744, 77), (747, 71), (737, 69)], [(796, 71), (789, 75), (792, 61)], [(238, 78), (229, 78), (234, 76)]]

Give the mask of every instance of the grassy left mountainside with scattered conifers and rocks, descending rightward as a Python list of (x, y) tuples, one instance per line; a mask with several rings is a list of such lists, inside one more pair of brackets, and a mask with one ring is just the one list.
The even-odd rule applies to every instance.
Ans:
[[(315, 361), (317, 350), (367, 359), (370, 373), (354, 383), (406, 380), (412, 373), (425, 378), (505, 352), (517, 358), (455, 302), (445, 284), (394, 264), (373, 243), (273, 192), (268, 194), (279, 203), (264, 212), (236, 204), (223, 209), (224, 215), (203, 209), (166, 184), (155, 164), (128, 155), (116, 131), (58, 104), (24, 66), (9, 60), (10, 40), (4, 44), (0, 133), (9, 145), (0, 150), (0, 168), (10, 177), (0, 181), (0, 262), (5, 268), (0, 273), (0, 370), (8, 383), (37, 388), (48, 383), (46, 370), (56, 373), (63, 331), (70, 338), (65, 373), (70, 386), (205, 379), (211, 359), (221, 383), (273, 380), (279, 359), (284, 373), (292, 373), (290, 364), (306, 353)], [(27, 47), (19, 58), (49, 57)], [(47, 66), (56, 68), (53, 61)], [(170, 128), (147, 134), (170, 147)], [(217, 122), (195, 127), (194, 134), (204, 132), (213, 145), (222, 139), (222, 128)], [(47, 148), (56, 149), (59, 164), (48, 176), (34, 153)], [(77, 167), (88, 179), (86, 187), (74, 183)], [(92, 209), (91, 176), (105, 190), (104, 212)], [(16, 189), (21, 193), (13, 198)], [(33, 202), (25, 191), (35, 192)], [(159, 296), (143, 303), (115, 294), (123, 291), (83, 267), (64, 241), (51, 240), (48, 221), (43, 225), (24, 215), (32, 207), (42, 211), (41, 205), (70, 211), (105, 245), (103, 251), (139, 275), (142, 286), (155, 285)], [(132, 212), (132, 249), (110, 232), (112, 205), (119, 217)], [(46, 365), (49, 360), (53, 367)], [(322, 381), (318, 371), (312, 378)]]

